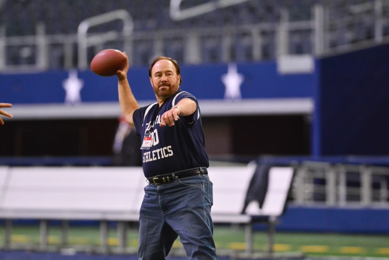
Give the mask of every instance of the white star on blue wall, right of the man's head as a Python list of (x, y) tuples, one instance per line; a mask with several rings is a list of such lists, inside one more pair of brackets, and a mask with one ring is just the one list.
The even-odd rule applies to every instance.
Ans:
[(225, 99), (241, 99), (240, 86), (244, 82), (244, 76), (238, 73), (236, 64), (229, 64), (227, 74), (221, 76), (221, 81), (225, 86)]

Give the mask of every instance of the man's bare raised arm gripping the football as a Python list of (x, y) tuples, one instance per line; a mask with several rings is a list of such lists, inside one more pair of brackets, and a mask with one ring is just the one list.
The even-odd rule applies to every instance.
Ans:
[[(125, 54), (125, 53), (124, 53)], [(127, 56), (127, 54), (126, 54)], [(134, 125), (134, 121), (132, 120), (132, 115), (134, 111), (139, 108), (138, 102), (136, 101), (134, 95), (132, 94), (130, 85), (127, 80), (127, 72), (128, 72), (128, 58), (127, 65), (122, 71), (117, 71), (117, 90), (119, 93), (119, 103), (121, 112), (123, 113), (124, 118), (127, 123), (130, 125)]]

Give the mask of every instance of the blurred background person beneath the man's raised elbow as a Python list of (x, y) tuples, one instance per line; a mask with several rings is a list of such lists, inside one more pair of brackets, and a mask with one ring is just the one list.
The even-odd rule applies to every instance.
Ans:
[(142, 166), (141, 140), (135, 127), (120, 116), (113, 141), (113, 164), (115, 166)]

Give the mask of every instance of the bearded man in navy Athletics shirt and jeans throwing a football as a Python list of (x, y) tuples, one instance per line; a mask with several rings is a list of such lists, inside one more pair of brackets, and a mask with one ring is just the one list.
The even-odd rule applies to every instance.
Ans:
[(157, 57), (150, 83), (157, 102), (139, 107), (127, 81), (128, 62), (117, 72), (120, 107), (141, 136), (143, 172), (150, 183), (140, 208), (140, 260), (164, 260), (180, 236), (189, 259), (215, 260), (212, 182), (207, 174), (200, 109), (180, 89), (175, 60)]

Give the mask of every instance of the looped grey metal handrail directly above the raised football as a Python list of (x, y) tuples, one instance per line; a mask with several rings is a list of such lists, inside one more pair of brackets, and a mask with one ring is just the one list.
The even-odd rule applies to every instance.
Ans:
[[(97, 16), (93, 16), (83, 20), (77, 29), (77, 39), (78, 39), (78, 68), (80, 70), (88, 69), (88, 29), (100, 25), (106, 22), (122, 20), (123, 21), (123, 30), (122, 34), (124, 36), (124, 42), (127, 43), (125, 46), (128, 46), (129, 36), (131, 35), (134, 29), (134, 23), (132, 16), (127, 10), (119, 9), (107, 13), (103, 13)], [(110, 39), (110, 38), (109, 38)], [(126, 48), (125, 47), (125, 48)]]

